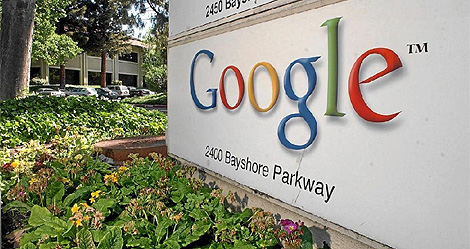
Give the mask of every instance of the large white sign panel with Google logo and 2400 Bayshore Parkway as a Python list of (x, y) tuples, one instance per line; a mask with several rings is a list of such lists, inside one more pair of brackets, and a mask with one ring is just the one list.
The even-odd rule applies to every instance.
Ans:
[(169, 152), (392, 247), (469, 248), (469, 44), (467, 0), (348, 0), (178, 44)]

